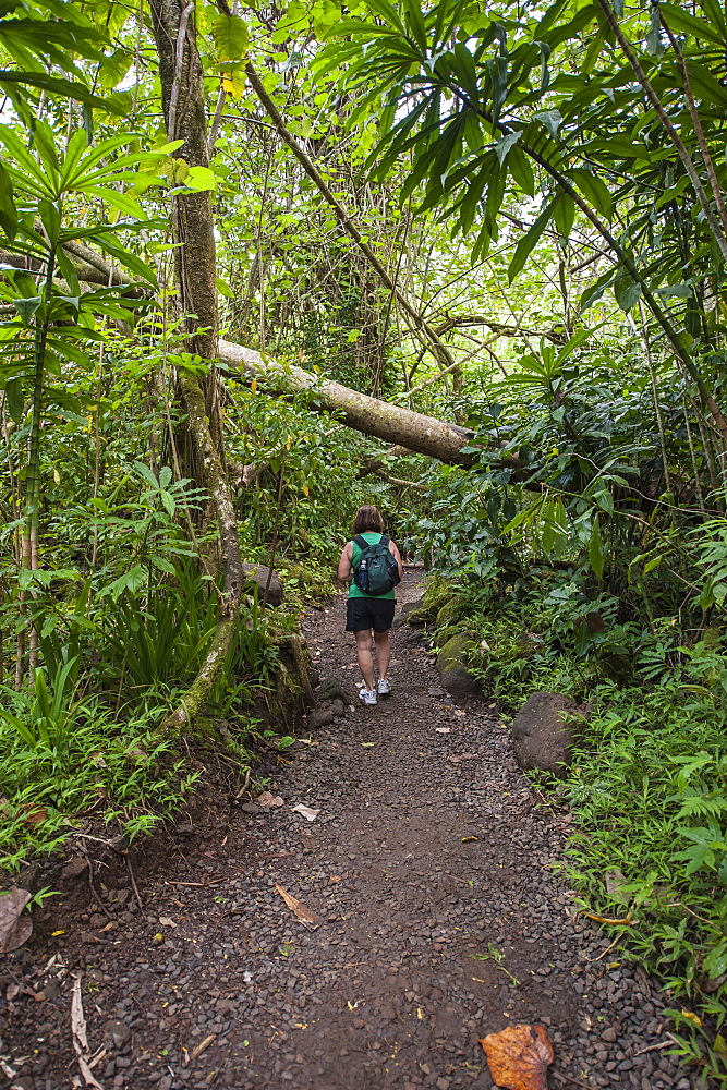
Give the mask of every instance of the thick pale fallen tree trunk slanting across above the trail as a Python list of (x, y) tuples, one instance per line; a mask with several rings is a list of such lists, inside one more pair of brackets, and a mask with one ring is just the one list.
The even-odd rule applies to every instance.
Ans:
[(312, 375), (302, 367), (289, 367), (252, 349), (220, 340), (220, 360), (251, 377), (266, 379), (279, 389), (310, 390), (315, 402), (326, 412), (336, 413), (348, 427), (364, 435), (397, 444), (420, 455), (429, 455), (441, 462), (469, 465), (472, 456), (464, 453), (472, 432), (448, 421), (425, 416), (359, 393), (329, 378)]

